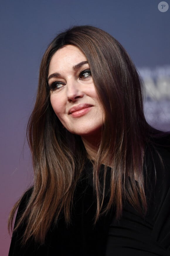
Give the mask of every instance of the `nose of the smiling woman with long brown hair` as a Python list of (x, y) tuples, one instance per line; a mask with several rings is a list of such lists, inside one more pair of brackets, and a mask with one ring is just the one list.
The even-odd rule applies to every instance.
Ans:
[(67, 81), (67, 100), (75, 102), (77, 99), (82, 98), (84, 93), (81, 91), (81, 86), (76, 80)]

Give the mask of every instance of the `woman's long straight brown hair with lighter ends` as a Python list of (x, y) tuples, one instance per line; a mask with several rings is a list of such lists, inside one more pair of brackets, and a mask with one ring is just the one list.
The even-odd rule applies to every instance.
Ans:
[[(64, 45), (77, 46), (86, 56), (98, 97), (106, 114), (101, 143), (93, 164), (97, 206), (95, 221), (115, 206), (121, 216), (127, 200), (145, 213), (142, 170), (143, 150), (148, 135), (157, 133), (146, 122), (143, 111), (142, 83), (127, 52), (105, 31), (92, 26), (76, 26), (59, 34), (48, 46), (41, 65), (35, 107), (29, 119), (27, 138), (32, 153), (34, 186), (26, 209), (15, 230), (25, 221), (23, 242), (31, 236), (43, 243), (53, 221), (62, 213), (70, 221), (72, 199), (87, 158), (79, 136), (63, 129), (50, 104), (47, 83), (53, 54)], [(111, 167), (110, 199), (103, 209), (105, 185), (101, 188), (100, 166)], [(104, 184), (107, 168), (104, 170)], [(137, 180), (137, 182), (135, 181)], [(9, 217), (12, 227), (16, 203)], [(14, 231), (15, 231), (14, 230)]]

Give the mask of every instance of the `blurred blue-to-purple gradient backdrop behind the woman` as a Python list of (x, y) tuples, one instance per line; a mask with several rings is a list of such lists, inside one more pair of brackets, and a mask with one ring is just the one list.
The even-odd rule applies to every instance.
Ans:
[(32, 180), (26, 125), (33, 108), (40, 60), (54, 36), (89, 24), (112, 34), (132, 57), (146, 84), (145, 111), (170, 130), (170, 1), (29, 0), (0, 2), (0, 255), (8, 255), (7, 219)]

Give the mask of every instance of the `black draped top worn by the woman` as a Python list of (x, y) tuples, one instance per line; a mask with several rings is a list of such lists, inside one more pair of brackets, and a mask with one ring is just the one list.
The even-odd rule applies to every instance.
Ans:
[[(86, 175), (77, 184), (72, 225), (67, 227), (62, 217), (57, 225), (52, 225), (44, 245), (38, 245), (30, 239), (24, 247), (20, 244), (23, 225), (13, 233), (9, 256), (170, 255), (170, 139), (161, 139), (159, 144), (162, 146), (157, 145), (156, 149), (163, 159), (164, 169), (152, 146), (151, 150), (148, 147), (145, 150), (144, 166), (147, 166), (147, 173), (144, 167), (144, 178), (147, 179), (148, 202), (145, 217), (126, 203), (119, 221), (115, 221), (112, 210), (94, 226), (96, 203), (93, 197), (93, 167), (88, 161)], [(19, 218), (30, 193), (31, 190), (23, 197), (16, 219)], [(106, 201), (107, 199), (106, 197)]]

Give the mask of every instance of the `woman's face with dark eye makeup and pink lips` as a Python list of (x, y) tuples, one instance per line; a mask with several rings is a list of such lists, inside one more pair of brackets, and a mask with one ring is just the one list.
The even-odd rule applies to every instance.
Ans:
[(86, 56), (66, 45), (50, 61), (50, 101), (63, 126), (80, 136), (98, 136), (105, 114), (94, 87)]

